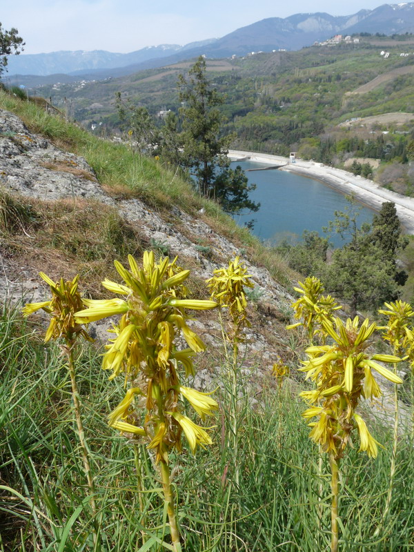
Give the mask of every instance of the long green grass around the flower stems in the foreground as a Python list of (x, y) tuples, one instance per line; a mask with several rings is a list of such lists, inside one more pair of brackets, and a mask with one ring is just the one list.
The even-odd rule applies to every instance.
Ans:
[[(46, 348), (38, 329), (18, 311), (5, 308), (1, 313), (0, 550), (90, 551), (92, 520), (68, 372), (59, 348)], [(144, 462), (141, 511), (133, 447), (106, 424), (123, 390), (108, 382), (90, 346), (77, 360), (77, 377), (97, 487), (101, 550), (137, 552), (141, 529), (151, 535), (146, 550), (164, 549), (157, 544), (166, 532), (159, 481), (150, 462)], [(328, 469), (325, 465), (322, 472), (319, 528), (318, 454), (300, 417), (304, 407), (288, 391), (278, 395), (271, 386), (256, 398), (240, 428), (239, 488), (233, 484), (233, 466), (223, 463), (227, 444), (221, 442), (221, 415), (213, 446), (197, 452), (196, 458), (187, 450), (171, 458), (187, 552), (328, 550)], [(401, 442), (391, 519), (373, 538), (386, 500), (391, 455), (388, 432), (377, 427), (375, 437), (385, 445), (377, 460), (354, 450), (344, 462), (342, 551), (412, 551), (412, 443)]]

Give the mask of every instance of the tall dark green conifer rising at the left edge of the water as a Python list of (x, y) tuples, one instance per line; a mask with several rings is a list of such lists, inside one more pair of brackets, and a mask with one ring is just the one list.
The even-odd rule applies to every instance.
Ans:
[(248, 199), (255, 184), (248, 184), (242, 168), (230, 168), (227, 152), (232, 136), (221, 136), (224, 117), (217, 108), (224, 98), (210, 86), (203, 57), (199, 57), (187, 77), (179, 76), (178, 86), (182, 105), (181, 166), (190, 171), (202, 195), (217, 199), (229, 213), (244, 208), (257, 211), (259, 204)]

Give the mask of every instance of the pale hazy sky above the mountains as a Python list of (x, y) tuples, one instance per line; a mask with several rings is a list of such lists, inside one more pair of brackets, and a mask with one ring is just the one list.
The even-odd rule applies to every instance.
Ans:
[[(351, 15), (381, 0), (0, 0), (3, 29), (15, 27), (25, 54), (57, 50), (133, 52), (144, 46), (224, 37), (266, 17)], [(389, 2), (393, 3), (393, 2)], [(395, 2), (396, 3), (396, 2)]]

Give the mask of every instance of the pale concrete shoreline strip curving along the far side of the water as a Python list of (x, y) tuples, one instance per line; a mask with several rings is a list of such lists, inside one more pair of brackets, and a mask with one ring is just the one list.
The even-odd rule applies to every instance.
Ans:
[(267, 165), (282, 165), (279, 170), (295, 172), (303, 177), (319, 180), (322, 184), (334, 188), (344, 195), (353, 194), (359, 203), (379, 211), (384, 201), (393, 201), (397, 215), (408, 234), (414, 234), (414, 198), (391, 192), (375, 184), (372, 180), (355, 176), (352, 172), (326, 166), (315, 161), (296, 160), (290, 163), (287, 157), (239, 150), (229, 150), (232, 161), (254, 161)]

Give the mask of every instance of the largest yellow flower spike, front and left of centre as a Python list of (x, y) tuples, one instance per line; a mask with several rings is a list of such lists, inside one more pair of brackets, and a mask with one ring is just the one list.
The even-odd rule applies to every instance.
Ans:
[[(217, 402), (208, 393), (181, 385), (177, 369), (181, 364), (186, 375), (192, 375), (192, 358), (205, 348), (186, 324), (186, 309), (205, 310), (217, 303), (185, 298), (183, 283), (190, 271), (181, 270), (177, 258), (155, 262), (154, 253), (146, 251), (142, 268), (132, 255), (128, 262), (130, 270), (115, 261), (126, 285), (108, 279), (102, 282), (125, 299), (84, 300), (88, 308), (77, 313), (77, 322), (121, 314), (119, 324), (112, 328), (116, 337), (110, 340), (102, 367), (112, 371), (110, 379), (122, 374), (129, 388), (110, 413), (109, 424), (137, 440), (143, 438), (148, 449), (155, 450), (156, 461), (168, 463), (168, 451), (181, 451), (182, 431), (192, 451), (197, 444), (211, 443), (208, 433), (181, 413), (182, 399), (203, 419), (217, 410)], [(178, 351), (175, 337), (180, 332), (188, 348)]]

